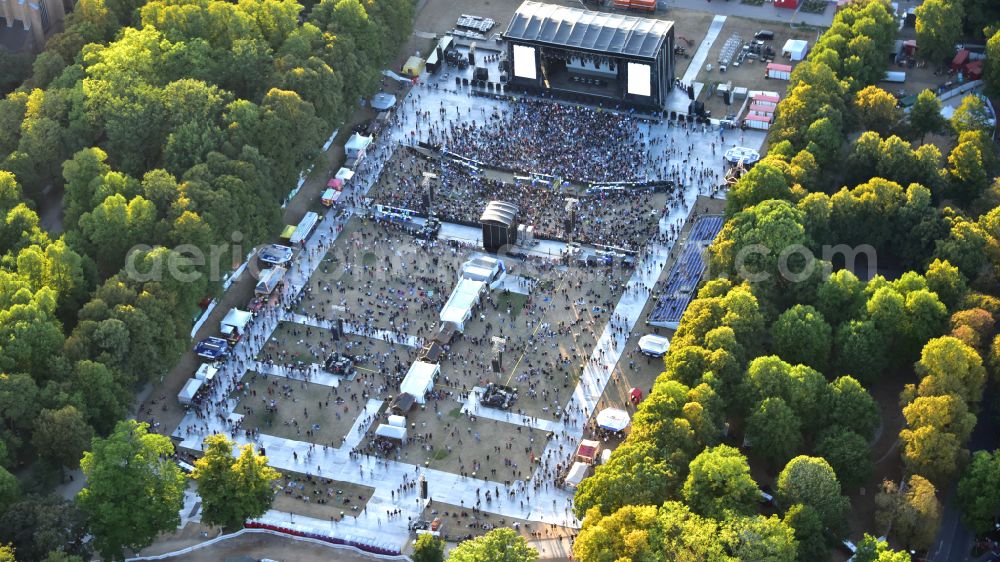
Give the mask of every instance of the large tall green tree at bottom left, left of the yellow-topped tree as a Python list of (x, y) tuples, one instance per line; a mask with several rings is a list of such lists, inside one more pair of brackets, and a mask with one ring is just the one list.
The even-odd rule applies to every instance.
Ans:
[(184, 505), (184, 475), (170, 459), (169, 437), (151, 434), (149, 425), (119, 422), (107, 439), (94, 439), (80, 466), (87, 487), (77, 501), (89, 518), (101, 556), (124, 560), (156, 535), (176, 529)]

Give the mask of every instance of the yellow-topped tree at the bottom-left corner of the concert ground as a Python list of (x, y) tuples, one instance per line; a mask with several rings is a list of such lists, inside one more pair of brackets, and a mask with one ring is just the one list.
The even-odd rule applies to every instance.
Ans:
[(267, 457), (244, 445), (233, 457), (235, 444), (216, 433), (205, 438), (205, 454), (194, 465), (191, 477), (198, 483), (202, 519), (209, 525), (235, 529), (247, 519), (260, 517), (271, 507), (271, 483), (280, 474), (267, 466)]

